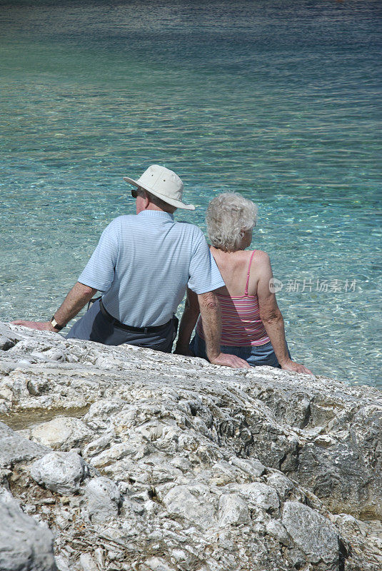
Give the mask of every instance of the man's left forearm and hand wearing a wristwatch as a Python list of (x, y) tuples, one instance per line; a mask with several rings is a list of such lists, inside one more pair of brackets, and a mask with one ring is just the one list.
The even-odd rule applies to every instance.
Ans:
[[(96, 289), (89, 287), (89, 285), (77, 282), (73, 288), (71, 288), (68, 295), (66, 295), (64, 302), (54, 314), (56, 322), (62, 326), (69, 323), (69, 321), (79, 313), (84, 305), (91, 300), (96, 291)], [(54, 331), (55, 333), (59, 332), (58, 329), (53, 327), (50, 321), (25, 321), (18, 319), (11, 323), (14, 323), (14, 325), (24, 325), (24, 327), (30, 327), (31, 329)]]

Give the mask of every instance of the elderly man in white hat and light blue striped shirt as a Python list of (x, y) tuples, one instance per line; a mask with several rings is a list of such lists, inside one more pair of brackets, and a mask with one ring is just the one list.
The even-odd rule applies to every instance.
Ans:
[(129, 177), (124, 181), (136, 187), (131, 191), (136, 215), (119, 216), (106, 227), (79, 281), (50, 321), (13, 323), (58, 332), (99, 290), (102, 297), (74, 324), (67, 338), (106, 345), (129, 343), (171, 353), (174, 314), (189, 285), (198, 295), (210, 362), (248, 367), (235, 355), (220, 352), (220, 310), (213, 290), (224, 282), (201, 230), (174, 221), (176, 208), (195, 208), (182, 201), (184, 185), (179, 176), (151, 165), (137, 181)]

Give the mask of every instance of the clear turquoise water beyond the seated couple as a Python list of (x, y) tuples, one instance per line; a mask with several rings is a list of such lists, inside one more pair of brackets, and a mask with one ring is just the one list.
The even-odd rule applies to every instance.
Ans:
[(203, 228), (256, 201), (293, 356), (382, 387), (377, 1), (0, 0), (0, 32), (1, 320), (52, 315), (156, 162)]

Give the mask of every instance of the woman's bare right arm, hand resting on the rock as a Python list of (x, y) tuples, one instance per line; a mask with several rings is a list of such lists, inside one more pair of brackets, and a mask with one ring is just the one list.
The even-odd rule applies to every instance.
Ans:
[(276, 295), (269, 288), (269, 282), (271, 278), (273, 278), (273, 273), (271, 261), (265, 252), (261, 253), (261, 257), (258, 258), (258, 271), (261, 276), (257, 286), (260, 318), (271, 340), (278, 363), (280, 363), (281, 368), (284, 370), (293, 370), (298, 373), (312, 375), (313, 373), (311, 373), (308, 368), (301, 363), (296, 363), (296, 361), (291, 360), (288, 355), (283, 316), (278, 308)]

